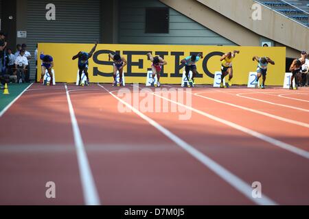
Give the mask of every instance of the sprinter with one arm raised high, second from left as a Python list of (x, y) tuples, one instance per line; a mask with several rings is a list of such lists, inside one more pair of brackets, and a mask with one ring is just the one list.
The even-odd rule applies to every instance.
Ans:
[(80, 80), (78, 82), (78, 85), (81, 85), (82, 82), (82, 71), (84, 71), (84, 75), (87, 77), (87, 84), (89, 85), (89, 75), (88, 75), (88, 60), (89, 58), (92, 57), (95, 49), (98, 46), (98, 41), (95, 42), (95, 46), (91, 49), (90, 53), (86, 53), (83, 51), (80, 51), (77, 55), (74, 55), (72, 57), (72, 60), (76, 60), (78, 58), (78, 69), (79, 69), (79, 75), (80, 75)]

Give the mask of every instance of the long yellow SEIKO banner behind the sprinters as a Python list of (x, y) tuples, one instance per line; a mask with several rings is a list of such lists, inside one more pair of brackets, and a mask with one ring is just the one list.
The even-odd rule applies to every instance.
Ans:
[[(41, 65), (41, 51), (54, 57), (56, 82), (76, 82), (78, 60), (72, 60), (79, 51), (89, 53), (94, 44), (39, 43), (38, 64)], [(113, 62), (108, 61), (108, 53), (119, 53), (128, 61), (124, 68), (126, 83), (146, 83), (146, 75), (151, 70), (151, 62), (146, 53), (159, 55), (168, 62), (163, 66), (161, 83), (180, 84), (183, 74), (181, 60), (188, 55), (203, 52), (203, 59), (196, 63), (197, 84), (213, 84), (214, 73), (220, 71), (222, 54), (239, 50), (233, 60), (233, 84), (247, 84), (250, 72), (255, 72), (258, 62), (252, 57), (270, 57), (275, 65), (268, 64), (266, 85), (282, 86), (286, 68), (285, 47), (212, 47), (190, 45), (147, 45), (147, 44), (98, 44), (93, 57), (89, 59), (89, 78), (91, 82), (112, 83)], [(41, 77), (41, 66), (38, 66), (38, 80)]]

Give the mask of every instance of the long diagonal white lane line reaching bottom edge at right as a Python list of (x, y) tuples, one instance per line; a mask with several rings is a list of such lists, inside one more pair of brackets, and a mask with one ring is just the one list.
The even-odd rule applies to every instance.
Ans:
[(265, 195), (263, 195), (262, 198), (253, 198), (251, 195), (252, 193), (251, 185), (247, 184), (246, 182), (244, 182), (242, 179), (240, 179), (236, 175), (233, 175), (232, 172), (229, 172), (229, 170), (225, 169), (223, 166), (220, 166), (220, 164), (216, 163), (213, 159), (207, 157), (207, 155), (204, 155), (203, 153), (201, 153), (201, 151), (198, 151), (197, 149), (195, 149), (194, 146), (188, 144), (187, 142), (185, 142), (184, 140), (176, 136), (174, 133), (172, 133), (168, 129), (165, 129), (163, 126), (159, 125), (159, 123), (155, 122), (155, 120), (152, 120), (151, 118), (141, 113), (139, 110), (137, 110), (132, 105), (126, 103), (126, 101), (119, 99), (118, 96), (116, 96), (115, 94), (113, 94), (113, 92), (110, 92), (109, 90), (104, 88), (104, 86), (101, 86), (100, 84), (98, 84), (98, 86), (106, 90), (106, 92), (111, 94), (115, 99), (120, 101), (122, 104), (126, 105), (126, 107), (130, 108), (130, 110), (135, 112), (137, 116), (143, 118), (150, 125), (158, 129), (161, 133), (163, 133), (164, 136), (170, 138), (170, 140), (175, 142), (183, 150), (187, 151), (187, 153), (190, 153), (192, 157), (198, 159), (198, 161), (200, 161), (207, 168), (215, 172), (216, 175), (221, 177), (223, 180), (229, 183), (229, 185), (231, 185), (233, 188), (238, 190), (244, 196), (249, 198), (253, 203), (256, 203), (258, 205), (277, 205), (277, 203), (275, 203), (274, 201), (272, 201), (270, 198), (268, 198)]

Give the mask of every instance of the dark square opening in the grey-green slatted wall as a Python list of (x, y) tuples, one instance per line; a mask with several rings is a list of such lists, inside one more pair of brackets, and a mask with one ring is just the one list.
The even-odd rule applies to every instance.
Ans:
[(170, 10), (168, 8), (146, 8), (146, 34), (168, 34)]

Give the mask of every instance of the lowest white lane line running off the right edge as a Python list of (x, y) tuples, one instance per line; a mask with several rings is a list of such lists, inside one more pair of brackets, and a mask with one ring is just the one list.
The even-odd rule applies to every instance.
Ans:
[(305, 151), (303, 149), (299, 149), (299, 148), (297, 148), (297, 146), (293, 146), (291, 144), (287, 144), (287, 143), (281, 142), (279, 140), (276, 140), (275, 138), (271, 138), (271, 137), (266, 136), (266, 135), (264, 135), (262, 133), (259, 133), (258, 131), (253, 131), (253, 130), (248, 129), (246, 127), (242, 127), (241, 125), (238, 125), (236, 123), (231, 123), (228, 120), (219, 118), (217, 116), (213, 116), (211, 114), (207, 114), (206, 112), (203, 112), (201, 110), (197, 110), (197, 109), (195, 109), (193, 107), (184, 105), (184, 104), (176, 102), (176, 101), (172, 101), (172, 100), (170, 100), (168, 98), (165, 98), (163, 96), (160, 96), (158, 94), (155, 94), (155, 93), (152, 93), (152, 94), (154, 94), (155, 96), (159, 96), (161, 99), (165, 99), (166, 101), (169, 101), (170, 103), (175, 103), (177, 105), (180, 105), (182, 107), (187, 108), (188, 110), (192, 110), (193, 112), (196, 112), (197, 114), (201, 114), (202, 116), (205, 116), (207, 118), (215, 120), (215, 121), (217, 121), (219, 123), (228, 125), (229, 127), (233, 127), (234, 129), (238, 129), (239, 131), (242, 131), (244, 133), (248, 133), (249, 135), (251, 135), (251, 136), (253, 136), (255, 138), (259, 138), (260, 140), (264, 140), (265, 142), (268, 142), (268, 143), (271, 143), (271, 144), (273, 144), (275, 146), (278, 146), (281, 149), (285, 149), (286, 151), (290, 151), (290, 152), (295, 153), (295, 154), (297, 154), (297, 155), (299, 155), (301, 157), (309, 159), (309, 152)]

